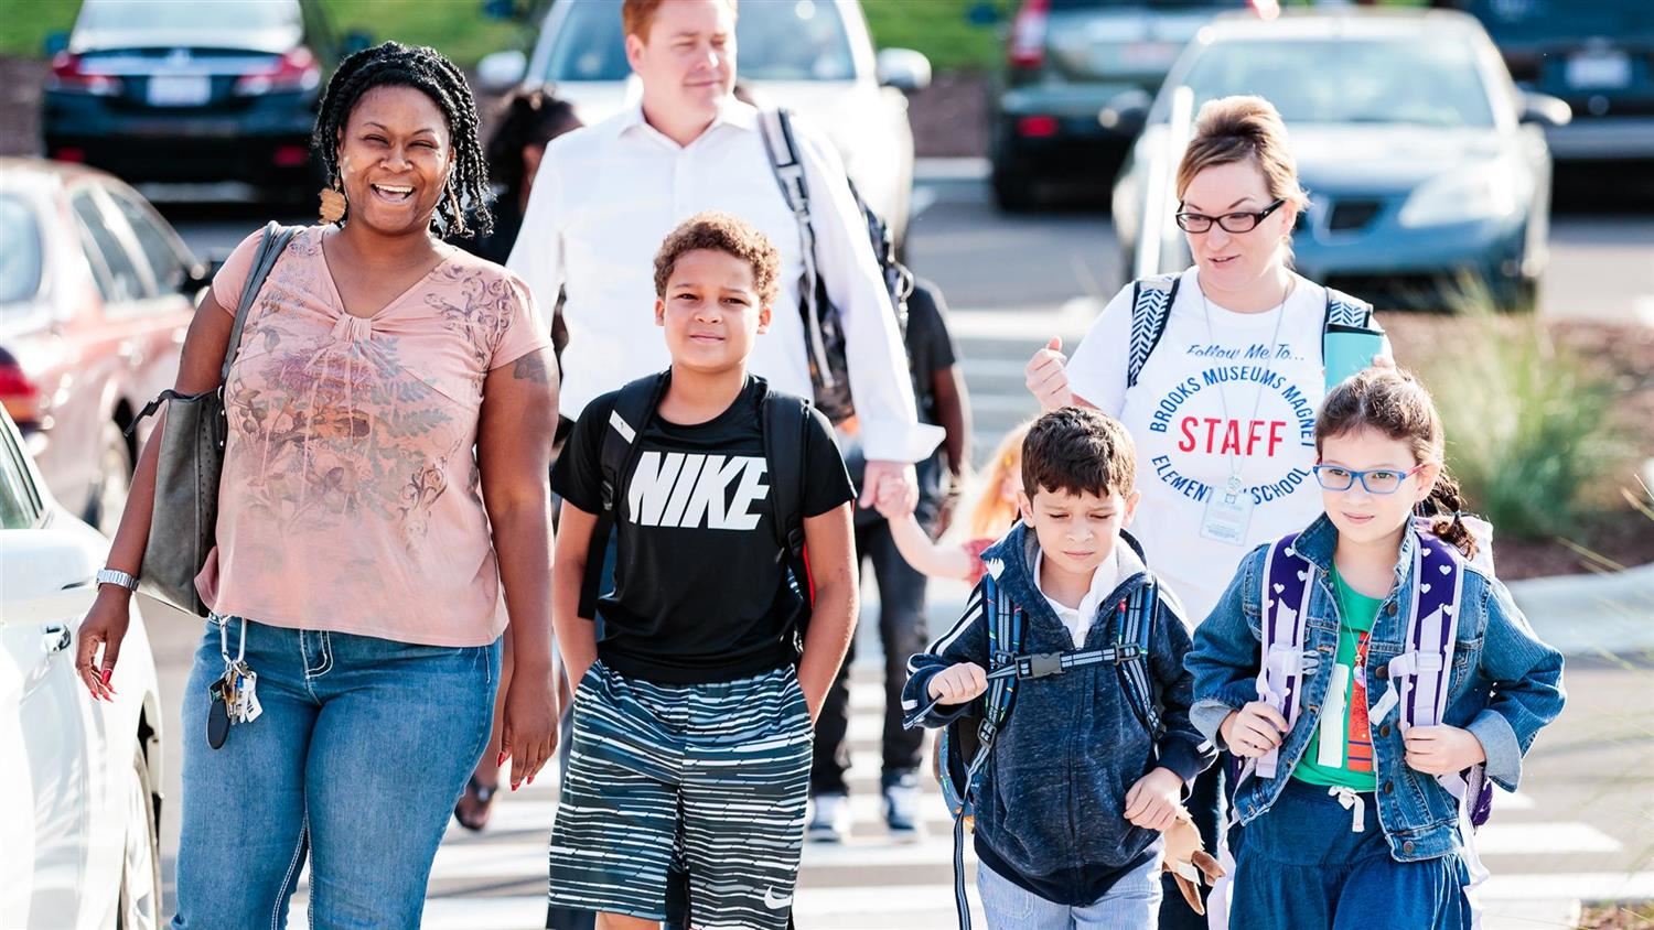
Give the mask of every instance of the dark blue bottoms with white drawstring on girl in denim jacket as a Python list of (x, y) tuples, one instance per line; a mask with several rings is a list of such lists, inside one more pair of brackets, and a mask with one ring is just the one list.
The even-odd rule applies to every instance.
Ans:
[(1274, 806), (1236, 828), (1229, 925), (1247, 930), (1459, 930), (1470, 927), (1469, 872), (1457, 854), (1398, 862), (1373, 795), (1355, 809), (1288, 780)]

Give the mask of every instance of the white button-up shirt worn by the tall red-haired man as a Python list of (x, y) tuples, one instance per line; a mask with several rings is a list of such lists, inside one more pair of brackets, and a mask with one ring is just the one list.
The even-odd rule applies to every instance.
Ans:
[[(918, 421), (901, 332), (867, 223), (839, 154), (794, 126), (817, 268), (844, 320), (863, 449), (868, 459), (921, 461), (943, 431)], [(703, 210), (739, 216), (781, 253), (769, 332), (758, 337), (748, 367), (777, 390), (812, 395), (799, 316), (801, 235), (771, 168), (758, 111), (731, 97), (700, 137), (678, 145), (648, 126), (635, 104), (546, 147), (506, 263), (541, 306), (554, 306), (557, 291), (566, 292), (564, 416), (576, 418), (597, 395), (670, 365), (655, 325), (655, 253), (673, 228)]]

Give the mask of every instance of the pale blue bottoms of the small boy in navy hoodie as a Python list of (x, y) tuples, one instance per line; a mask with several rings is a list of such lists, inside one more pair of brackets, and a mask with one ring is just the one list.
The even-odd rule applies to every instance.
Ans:
[(1154, 930), (1159, 912), (1159, 857), (1120, 875), (1108, 894), (1085, 907), (1045, 900), (987, 866), (976, 866), (987, 930)]

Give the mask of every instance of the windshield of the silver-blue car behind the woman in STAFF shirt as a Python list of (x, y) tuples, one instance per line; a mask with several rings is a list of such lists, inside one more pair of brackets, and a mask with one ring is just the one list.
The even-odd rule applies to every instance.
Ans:
[(1221, 41), (1196, 58), (1183, 83), (1194, 91), (1196, 111), (1211, 99), (1259, 94), (1275, 104), (1288, 127), (1494, 126), (1475, 50), (1449, 38)]

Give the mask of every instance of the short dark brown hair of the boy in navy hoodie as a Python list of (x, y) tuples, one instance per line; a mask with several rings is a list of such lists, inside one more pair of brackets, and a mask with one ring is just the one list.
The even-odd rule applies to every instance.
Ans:
[(1118, 420), (1088, 406), (1040, 416), (1022, 439), (1022, 492), (1131, 494), (1136, 448)]

